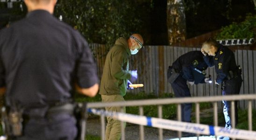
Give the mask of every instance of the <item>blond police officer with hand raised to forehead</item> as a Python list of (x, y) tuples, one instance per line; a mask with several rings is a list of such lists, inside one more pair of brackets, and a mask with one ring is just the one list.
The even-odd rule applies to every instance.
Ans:
[[(242, 70), (235, 63), (234, 53), (216, 40), (209, 38), (203, 43), (201, 52), (209, 67), (215, 66), (217, 77), (216, 85), (221, 85), (222, 95), (239, 94), (242, 85)], [(230, 101), (223, 100), (223, 113), (226, 121), (225, 128), (231, 128)], [(235, 101), (235, 123), (238, 122), (237, 101)], [(228, 137), (220, 137), (229, 140)]]

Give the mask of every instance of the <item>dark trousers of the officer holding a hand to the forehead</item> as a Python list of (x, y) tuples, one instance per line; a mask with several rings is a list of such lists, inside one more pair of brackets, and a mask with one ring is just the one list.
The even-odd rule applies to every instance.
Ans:
[[(222, 95), (238, 95), (242, 86), (242, 77), (238, 76), (236, 78), (225, 81), (225, 89), (222, 90)], [(223, 114), (225, 117), (225, 128), (231, 128), (231, 101), (222, 101), (224, 104)], [(238, 113), (237, 113), (238, 101), (235, 101), (235, 124), (238, 123)]]

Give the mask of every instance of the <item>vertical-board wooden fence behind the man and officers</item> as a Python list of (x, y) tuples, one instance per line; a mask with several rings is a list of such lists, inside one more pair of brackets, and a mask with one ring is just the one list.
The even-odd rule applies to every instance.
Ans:
[[(98, 65), (98, 75), (101, 78), (103, 66), (106, 58), (104, 45), (92, 44), (92, 51), (96, 56)], [(142, 88), (129, 90), (129, 93), (139, 92), (154, 93), (160, 96), (163, 93), (173, 93), (171, 84), (167, 82), (167, 69), (179, 56), (192, 50), (200, 48), (185, 48), (173, 46), (146, 46), (136, 55), (132, 55), (129, 60), (130, 70), (138, 70), (138, 79), (133, 84), (144, 84)], [(243, 83), (240, 94), (256, 93), (256, 50), (235, 50), (235, 59), (242, 67)], [(212, 79), (216, 78), (214, 67), (206, 70), (207, 75)], [(196, 96), (216, 96), (221, 95), (221, 90), (212, 84), (189, 85), (191, 94)], [(240, 107), (246, 108), (247, 102), (240, 101)], [(256, 101), (253, 102), (256, 108)]]

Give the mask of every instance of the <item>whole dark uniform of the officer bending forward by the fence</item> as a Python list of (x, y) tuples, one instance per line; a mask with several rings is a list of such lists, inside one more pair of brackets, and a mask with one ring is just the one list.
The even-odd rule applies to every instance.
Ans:
[[(198, 81), (197, 78), (200, 78), (199, 83), (205, 83), (204, 75), (202, 77), (194, 77), (194, 69), (204, 71), (208, 68), (207, 64), (203, 59), (203, 54), (201, 51), (190, 51), (184, 55), (178, 57), (178, 59), (172, 63), (172, 66), (169, 66), (167, 77), (171, 77), (171, 69), (179, 73), (179, 76), (171, 83), (171, 87), (174, 91), (175, 97), (191, 97), (187, 81), (193, 82)], [(198, 84), (198, 83), (196, 83)], [(185, 103), (181, 105), (182, 108), (182, 121), (191, 122), (191, 110), (192, 104)]]

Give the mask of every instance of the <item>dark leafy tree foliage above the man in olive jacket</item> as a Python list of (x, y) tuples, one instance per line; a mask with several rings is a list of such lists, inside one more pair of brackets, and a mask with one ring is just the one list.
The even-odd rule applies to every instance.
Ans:
[(110, 47), (117, 38), (138, 32), (140, 8), (137, 0), (58, 0), (55, 15), (62, 15), (88, 42)]

